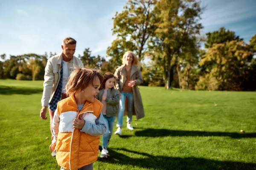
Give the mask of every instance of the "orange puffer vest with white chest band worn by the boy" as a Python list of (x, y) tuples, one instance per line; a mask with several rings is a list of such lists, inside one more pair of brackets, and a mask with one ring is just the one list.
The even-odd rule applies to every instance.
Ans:
[(74, 96), (58, 102), (61, 133), (58, 133), (56, 142), (56, 160), (65, 170), (76, 170), (97, 160), (100, 136), (90, 136), (79, 129), (74, 129), (73, 120), (82, 115), (85, 123), (95, 123), (102, 107), (102, 103), (95, 99), (93, 103), (86, 102), (79, 112)]

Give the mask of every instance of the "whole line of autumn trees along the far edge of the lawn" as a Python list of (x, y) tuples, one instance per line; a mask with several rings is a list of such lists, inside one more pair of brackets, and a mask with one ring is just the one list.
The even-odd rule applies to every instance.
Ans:
[[(256, 34), (249, 43), (225, 28), (202, 34), (197, 0), (128, 0), (113, 17), (113, 40), (108, 61), (79, 55), (89, 67), (114, 72), (122, 55), (131, 50), (139, 58), (143, 85), (197, 90), (256, 90)], [(39, 80), (52, 53), (2, 54), (0, 78)], [(144, 62), (148, 61), (148, 62)]]

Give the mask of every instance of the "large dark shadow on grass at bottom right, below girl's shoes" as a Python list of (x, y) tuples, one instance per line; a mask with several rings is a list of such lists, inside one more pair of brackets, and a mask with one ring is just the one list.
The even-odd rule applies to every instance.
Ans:
[(99, 158), (98, 161), (110, 164), (133, 165), (143, 168), (153, 168), (160, 170), (255, 170), (256, 164), (236, 161), (215, 161), (203, 158), (175, 158), (169, 156), (152, 156), (124, 148), (117, 148), (125, 152), (140, 155), (143, 158), (130, 158), (125, 154), (118, 153), (108, 148), (108, 159)]

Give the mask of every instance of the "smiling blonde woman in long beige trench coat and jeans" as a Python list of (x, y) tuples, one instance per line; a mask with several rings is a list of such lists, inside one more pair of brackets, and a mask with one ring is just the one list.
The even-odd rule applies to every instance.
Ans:
[(127, 51), (123, 55), (122, 63), (115, 71), (116, 77), (116, 89), (121, 93), (121, 99), (119, 102), (119, 111), (117, 117), (118, 127), (115, 134), (122, 135), (122, 121), (125, 111), (125, 99), (128, 99), (128, 116), (127, 116), (127, 128), (133, 130), (131, 126), (132, 115), (136, 114), (137, 119), (144, 117), (143, 103), (140, 96), (138, 85), (143, 82), (143, 78), (138, 67), (138, 58), (132, 51)]

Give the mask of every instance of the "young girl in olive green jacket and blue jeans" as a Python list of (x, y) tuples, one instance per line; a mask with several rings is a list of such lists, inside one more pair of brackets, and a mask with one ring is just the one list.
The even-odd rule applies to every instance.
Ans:
[(106, 133), (102, 136), (102, 153), (101, 158), (108, 157), (108, 142), (113, 133), (113, 127), (116, 119), (116, 112), (120, 100), (119, 92), (114, 88), (116, 86), (116, 79), (112, 73), (105, 73), (104, 80), (99, 87), (99, 94), (97, 99), (102, 102), (102, 114), (107, 126)]

